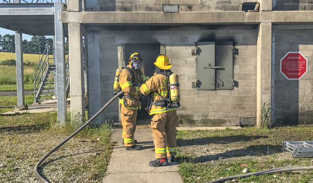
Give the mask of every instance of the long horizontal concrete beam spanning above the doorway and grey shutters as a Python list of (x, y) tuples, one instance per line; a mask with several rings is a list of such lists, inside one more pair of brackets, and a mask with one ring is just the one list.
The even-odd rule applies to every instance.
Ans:
[(138, 23), (138, 24), (197, 24), (197, 23), (259, 23), (261, 13), (246, 12), (62, 12), (62, 22), (79, 23)]

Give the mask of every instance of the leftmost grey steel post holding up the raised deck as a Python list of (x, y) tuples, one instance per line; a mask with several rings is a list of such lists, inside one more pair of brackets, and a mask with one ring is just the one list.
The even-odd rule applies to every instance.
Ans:
[(23, 44), (22, 31), (15, 32), (15, 55), (16, 55), (16, 87), (18, 95), (17, 110), (26, 109), (24, 106), (24, 72), (23, 72)]

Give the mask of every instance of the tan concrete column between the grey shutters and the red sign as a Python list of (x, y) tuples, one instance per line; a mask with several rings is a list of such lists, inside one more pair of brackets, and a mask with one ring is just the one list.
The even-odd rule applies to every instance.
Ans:
[[(257, 41), (257, 126), (261, 126), (261, 109), (271, 97), (271, 22), (261, 22)], [(270, 105), (269, 105), (270, 106)]]

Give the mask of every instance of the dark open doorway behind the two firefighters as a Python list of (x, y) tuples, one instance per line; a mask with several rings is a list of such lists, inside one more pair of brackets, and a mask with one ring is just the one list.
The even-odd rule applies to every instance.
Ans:
[[(125, 66), (128, 65), (129, 57), (136, 52), (141, 55), (144, 61), (145, 76), (152, 77), (156, 68), (154, 62), (160, 54), (160, 44), (125, 44)], [(145, 100), (141, 104), (141, 110), (138, 111), (137, 122), (149, 123), (151, 120), (151, 116), (145, 111), (148, 99), (149, 95), (145, 96)]]

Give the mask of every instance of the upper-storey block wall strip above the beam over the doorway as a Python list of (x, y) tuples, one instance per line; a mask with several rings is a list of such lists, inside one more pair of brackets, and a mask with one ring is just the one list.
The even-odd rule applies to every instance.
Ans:
[(179, 12), (241, 11), (247, 1), (260, 0), (99, 0), (99, 8), (93, 11), (162, 12), (163, 4), (178, 4)]

